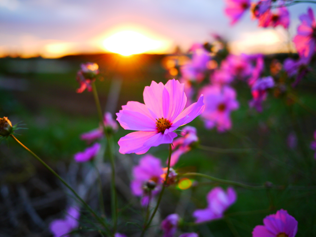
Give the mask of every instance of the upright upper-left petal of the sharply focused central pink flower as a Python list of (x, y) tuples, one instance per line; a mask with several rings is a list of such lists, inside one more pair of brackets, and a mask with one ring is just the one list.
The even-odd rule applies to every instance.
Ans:
[(147, 108), (155, 114), (155, 118), (163, 117), (163, 101), (162, 94), (165, 88), (162, 82), (152, 81), (150, 86), (144, 89), (144, 102)]

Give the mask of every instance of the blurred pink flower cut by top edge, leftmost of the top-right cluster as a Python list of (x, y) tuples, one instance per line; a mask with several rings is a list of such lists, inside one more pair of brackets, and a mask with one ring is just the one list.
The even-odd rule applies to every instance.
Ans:
[(250, 0), (225, 0), (225, 2), (225, 13), (231, 19), (231, 25), (234, 25), (245, 11), (250, 8)]

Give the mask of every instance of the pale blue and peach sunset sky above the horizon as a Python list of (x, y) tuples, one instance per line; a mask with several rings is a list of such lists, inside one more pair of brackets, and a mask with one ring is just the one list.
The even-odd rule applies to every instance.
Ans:
[[(309, 5), (289, 7), (287, 32), (282, 27), (258, 28), (249, 12), (230, 26), (221, 0), (0, 0), (0, 57), (56, 58), (115, 47), (130, 53), (138, 47), (170, 53), (176, 46), (185, 51), (193, 43), (210, 41), (212, 33), (226, 38), (237, 54), (295, 50), (289, 40)], [(105, 43), (109, 37), (112, 41)]]

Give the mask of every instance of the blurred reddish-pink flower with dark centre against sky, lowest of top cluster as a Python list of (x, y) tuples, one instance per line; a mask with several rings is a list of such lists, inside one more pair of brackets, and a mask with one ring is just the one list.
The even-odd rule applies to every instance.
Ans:
[(289, 28), (290, 18), (289, 11), (286, 7), (280, 7), (272, 12), (270, 9), (258, 17), (259, 27), (276, 27), (283, 26), (285, 29)]

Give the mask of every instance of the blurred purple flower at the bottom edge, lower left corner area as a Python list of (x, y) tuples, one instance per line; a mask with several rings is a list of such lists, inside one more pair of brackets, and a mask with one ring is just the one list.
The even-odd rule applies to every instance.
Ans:
[(71, 232), (79, 226), (78, 219), (80, 212), (78, 207), (70, 207), (67, 209), (67, 215), (64, 219), (57, 219), (52, 221), (49, 225), (50, 231), (54, 237), (69, 237), (67, 233)]

